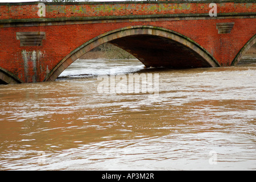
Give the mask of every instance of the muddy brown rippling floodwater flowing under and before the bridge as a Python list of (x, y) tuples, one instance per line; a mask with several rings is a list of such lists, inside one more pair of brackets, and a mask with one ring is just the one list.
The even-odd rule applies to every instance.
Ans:
[[(53, 82), (0, 85), (0, 169), (256, 169), (255, 63), (78, 60)], [(159, 96), (98, 93), (113, 69), (159, 73)]]

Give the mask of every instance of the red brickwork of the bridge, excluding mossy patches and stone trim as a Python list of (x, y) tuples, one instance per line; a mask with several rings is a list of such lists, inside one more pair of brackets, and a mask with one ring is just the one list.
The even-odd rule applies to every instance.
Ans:
[[(256, 3), (250, 4), (252, 9), (247, 11), (256, 11)], [(127, 4), (127, 6), (135, 6), (134, 4)], [(142, 6), (149, 6), (154, 4), (139, 4), (136, 5), (139, 9)], [(158, 4), (157, 4), (158, 5)], [(170, 6), (171, 4), (166, 4)], [(206, 4), (203, 4), (207, 6)], [(208, 13), (209, 9), (204, 9), (200, 3), (190, 5), (190, 10), (169, 10), (168, 13)], [(90, 6), (90, 5), (82, 5)], [(96, 6), (96, 5), (93, 5)], [(159, 5), (158, 5), (159, 6)], [(249, 6), (249, 5), (247, 5)], [(9, 7), (9, 9), (7, 8)], [(66, 6), (69, 9), (71, 5)], [(246, 5), (235, 5), (235, 9), (239, 12), (246, 11)], [(76, 7), (76, 8), (79, 8)], [(6, 9), (3, 11), (3, 9)], [(8, 9), (8, 10), (7, 10)], [(30, 11), (29, 11), (30, 10)], [(0, 6), (0, 19), (5, 18), (38, 18), (37, 5), (17, 6), (14, 10), (13, 6)], [(89, 8), (86, 8), (89, 10)], [(153, 13), (153, 11), (135, 11), (134, 14), (141, 14), (142, 12)], [(234, 3), (225, 3), (218, 7), (218, 12), (234, 12)], [(11, 13), (13, 12), (13, 13)], [(58, 14), (57, 12), (47, 13), (47, 17), (61, 16), (66, 17), (70, 15), (71, 11), (66, 11), (65, 14)], [(95, 16), (93, 11), (86, 11), (87, 15)], [(106, 13), (106, 12), (105, 12)], [(117, 12), (109, 12), (98, 15), (113, 15)], [(161, 12), (161, 13), (166, 13)], [(123, 14), (129, 14), (123, 10)], [(21, 15), (21, 16), (20, 16)], [(73, 14), (75, 15), (75, 14)], [(85, 15), (85, 14), (83, 14)], [(235, 26), (230, 34), (218, 34), (216, 23), (234, 22)], [(255, 18), (234, 18), (234, 19), (194, 19), (194, 20), (162, 20), (149, 22), (121, 22), (121, 23), (90, 23), (90, 24), (73, 24), (73, 25), (54, 25), (54, 26), (28, 26), (28, 27), (1, 27), (0, 24), (0, 67), (7, 69), (24, 82), (43, 81), (47, 73), (51, 71), (66, 55), (68, 55), (75, 48), (81, 46), (95, 36), (101, 35), (105, 32), (115, 30), (117, 28), (135, 26), (135, 25), (151, 25), (156, 27), (163, 27), (169, 30), (177, 31), (182, 35), (189, 37), (203, 48), (205, 48), (221, 65), (230, 65), (239, 50), (246, 44), (246, 42), (256, 33), (256, 19)], [(16, 32), (23, 31), (43, 31), (46, 32), (46, 39), (43, 39), (43, 46), (26, 46), (21, 47), (19, 40), (16, 38)], [(27, 68), (22, 57), (22, 51), (27, 52), (40, 51), (40, 63), (35, 65), (31, 60), (27, 61)]]

